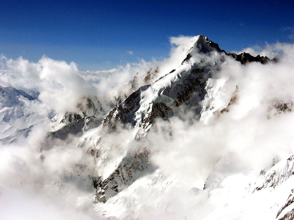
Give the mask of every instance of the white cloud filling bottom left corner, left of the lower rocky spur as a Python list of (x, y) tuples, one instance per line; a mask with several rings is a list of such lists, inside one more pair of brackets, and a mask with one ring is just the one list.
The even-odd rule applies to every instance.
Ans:
[[(32, 136), (35, 135), (33, 132)], [(88, 174), (94, 171), (93, 158), (72, 144), (40, 152), (32, 142), (24, 139), (21, 143), (21, 146), (2, 145), (0, 149), (1, 216), (93, 219), (94, 189), (88, 179)]]

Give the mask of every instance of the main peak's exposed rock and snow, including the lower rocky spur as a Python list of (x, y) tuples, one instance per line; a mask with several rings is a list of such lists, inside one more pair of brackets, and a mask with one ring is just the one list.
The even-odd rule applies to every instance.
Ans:
[[(133, 130), (135, 139), (144, 139), (156, 118), (183, 117), (183, 110), (192, 111), (195, 118), (208, 123), (214, 115), (228, 111), (228, 106), (238, 99), (238, 86), (234, 81), (218, 78), (217, 73), (226, 57), (234, 57), (243, 65), (247, 62), (269, 61), (267, 57), (252, 57), (250, 54), (227, 54), (202, 35), (194, 37), (193, 41), (194, 44), (187, 51), (186, 57), (179, 59), (177, 69), (171, 70), (150, 85), (140, 87), (106, 115), (103, 122), (105, 132), (120, 130), (122, 126)], [(113, 163), (113, 172), (108, 171), (110, 176), (107, 177), (102, 171), (105, 163), (101, 162), (109, 160), (109, 150), (103, 150), (105, 145), (107, 146), (103, 135), (97, 143), (87, 144), (94, 146), (99, 152), (98, 176), (95, 179), (96, 201), (106, 202), (107, 198), (135, 181), (137, 170), (148, 170), (148, 150), (139, 150), (135, 155), (123, 152)], [(140, 160), (134, 165), (133, 160), (138, 157)]]

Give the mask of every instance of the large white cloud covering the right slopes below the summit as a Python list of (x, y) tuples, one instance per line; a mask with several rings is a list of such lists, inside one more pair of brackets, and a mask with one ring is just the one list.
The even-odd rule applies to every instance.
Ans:
[[(275, 99), (293, 101), (294, 45), (267, 49), (282, 52), (278, 63), (243, 66), (228, 58), (222, 64), (216, 78), (229, 79), (239, 88), (228, 112), (208, 124), (193, 113), (157, 119), (146, 143), (156, 171), (97, 205), (97, 211), (126, 219), (275, 218), (277, 204), (290, 191), (282, 196), (277, 190), (251, 194), (249, 187), (273, 159), (294, 152), (293, 112), (267, 118)], [(230, 85), (223, 89), (229, 92)], [(207, 190), (202, 190), (204, 182)]]

